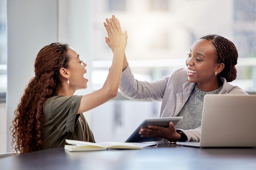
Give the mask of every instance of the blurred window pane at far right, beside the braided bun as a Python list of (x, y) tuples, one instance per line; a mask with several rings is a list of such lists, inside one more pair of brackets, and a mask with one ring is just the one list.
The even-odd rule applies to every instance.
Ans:
[(238, 48), (239, 58), (247, 61), (245, 65), (238, 67), (237, 81), (245, 83), (242, 87), (245, 90), (256, 91), (256, 1), (234, 0), (233, 16), (234, 44)]

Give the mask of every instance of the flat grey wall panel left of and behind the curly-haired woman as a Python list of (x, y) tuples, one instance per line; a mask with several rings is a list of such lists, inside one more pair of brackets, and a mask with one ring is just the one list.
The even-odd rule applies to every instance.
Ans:
[(39, 50), (58, 38), (57, 0), (7, 1), (7, 152), (9, 126), (25, 86), (34, 76)]

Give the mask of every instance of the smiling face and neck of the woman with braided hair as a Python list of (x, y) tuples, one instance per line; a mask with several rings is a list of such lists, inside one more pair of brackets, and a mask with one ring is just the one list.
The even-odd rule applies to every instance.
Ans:
[(216, 48), (211, 41), (199, 39), (192, 45), (186, 65), (188, 68), (188, 80), (198, 83), (198, 88), (203, 91), (218, 89), (218, 76), (221, 71), (220, 63), (216, 63)]

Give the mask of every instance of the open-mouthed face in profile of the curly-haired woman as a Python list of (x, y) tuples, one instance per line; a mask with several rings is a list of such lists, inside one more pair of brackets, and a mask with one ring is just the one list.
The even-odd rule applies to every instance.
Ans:
[(87, 64), (79, 58), (79, 54), (73, 48), (69, 47), (67, 54), (70, 57), (68, 68), (66, 69), (70, 81), (69, 88), (74, 90), (87, 88), (88, 79), (83, 77), (86, 73), (85, 67)]

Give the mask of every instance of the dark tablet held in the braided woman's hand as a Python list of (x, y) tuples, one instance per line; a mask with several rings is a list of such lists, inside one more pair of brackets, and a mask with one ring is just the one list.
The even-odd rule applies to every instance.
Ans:
[(160, 141), (163, 138), (161, 137), (140, 137), (139, 129), (146, 128), (148, 125), (157, 125), (168, 127), (169, 122), (173, 122), (176, 125), (180, 120), (182, 120), (182, 116), (177, 117), (168, 117), (168, 118), (152, 118), (152, 119), (145, 119), (137, 129), (128, 137), (125, 142), (153, 142), (153, 141)]

